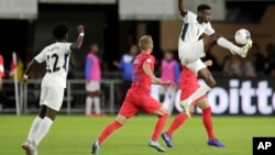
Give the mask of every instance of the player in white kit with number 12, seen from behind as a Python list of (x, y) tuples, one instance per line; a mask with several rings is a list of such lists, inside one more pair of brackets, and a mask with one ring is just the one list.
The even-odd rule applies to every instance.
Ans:
[(46, 74), (41, 84), (40, 113), (33, 120), (28, 139), (22, 144), (26, 155), (37, 155), (37, 146), (42, 139), (47, 134), (50, 128), (59, 111), (66, 79), (68, 73), (68, 62), (72, 52), (79, 49), (84, 40), (84, 26), (78, 25), (79, 33), (75, 43), (68, 43), (68, 26), (65, 23), (57, 24), (53, 34), (56, 42), (46, 46), (33, 60), (28, 65), (23, 76), (23, 84), (28, 84), (28, 77), (32, 67), (43, 62), (46, 63)]

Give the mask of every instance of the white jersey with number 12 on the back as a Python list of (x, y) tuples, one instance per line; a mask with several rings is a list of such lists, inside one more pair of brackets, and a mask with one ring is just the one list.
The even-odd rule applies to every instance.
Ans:
[(38, 63), (46, 62), (46, 74), (41, 87), (66, 88), (68, 63), (72, 43), (56, 42), (46, 46), (34, 59)]

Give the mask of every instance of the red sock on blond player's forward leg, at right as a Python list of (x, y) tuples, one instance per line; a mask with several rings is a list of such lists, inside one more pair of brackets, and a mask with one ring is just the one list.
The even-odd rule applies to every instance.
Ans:
[(160, 135), (161, 135), (161, 133), (162, 133), (162, 131), (163, 131), (163, 129), (164, 129), (164, 126), (166, 124), (167, 119), (168, 119), (167, 113), (164, 114), (164, 115), (158, 117), (158, 120), (157, 120), (157, 122), (155, 124), (154, 133), (152, 135), (152, 141), (157, 141), (158, 140), (158, 137), (160, 137)]

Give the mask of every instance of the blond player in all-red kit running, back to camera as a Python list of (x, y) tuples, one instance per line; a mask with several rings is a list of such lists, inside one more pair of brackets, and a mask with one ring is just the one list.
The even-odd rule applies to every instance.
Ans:
[(150, 86), (151, 84), (172, 86), (174, 82), (170, 80), (163, 81), (162, 79), (156, 78), (153, 74), (155, 57), (152, 55), (152, 36), (142, 36), (139, 41), (139, 46), (142, 52), (134, 58), (132, 86), (128, 90), (117, 119), (112, 123), (108, 124), (99, 135), (98, 140), (92, 143), (91, 154), (94, 155), (98, 155), (99, 147), (102, 145), (103, 141), (116, 130), (121, 128), (127, 120), (133, 117), (139, 110), (144, 110), (150, 114), (157, 115), (158, 120), (155, 124), (148, 146), (157, 150), (158, 152), (165, 152), (165, 150), (158, 144), (157, 140), (167, 121), (168, 114), (162, 103), (151, 97)]

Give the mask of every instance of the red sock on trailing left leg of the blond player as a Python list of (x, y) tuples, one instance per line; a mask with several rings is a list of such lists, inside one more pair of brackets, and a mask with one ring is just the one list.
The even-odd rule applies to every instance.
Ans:
[(107, 125), (103, 130), (103, 132), (99, 135), (98, 137), (98, 143), (99, 145), (101, 145), (101, 143), (103, 143), (103, 141), (117, 129), (121, 128), (122, 124), (119, 123), (118, 121), (113, 121), (112, 123), (110, 123), (109, 125)]

